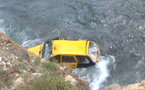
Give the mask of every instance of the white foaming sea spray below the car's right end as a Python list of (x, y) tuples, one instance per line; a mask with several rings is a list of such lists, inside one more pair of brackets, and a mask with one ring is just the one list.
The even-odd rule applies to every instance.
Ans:
[(101, 56), (101, 60), (95, 66), (78, 68), (74, 71), (78, 76), (89, 82), (91, 90), (99, 90), (103, 87), (103, 82), (109, 77), (108, 66), (113, 63), (115, 63), (114, 56)]

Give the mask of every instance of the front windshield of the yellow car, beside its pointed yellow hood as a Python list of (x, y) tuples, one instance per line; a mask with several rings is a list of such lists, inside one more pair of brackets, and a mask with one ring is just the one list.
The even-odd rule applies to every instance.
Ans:
[(43, 58), (49, 59), (52, 56), (52, 43), (46, 42), (43, 47)]

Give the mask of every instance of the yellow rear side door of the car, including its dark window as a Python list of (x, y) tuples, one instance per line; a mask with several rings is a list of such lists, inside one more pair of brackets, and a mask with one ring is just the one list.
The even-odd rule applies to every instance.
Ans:
[(67, 64), (70, 65), (72, 68), (77, 67), (77, 62), (74, 56), (61, 56), (60, 57), (60, 64)]

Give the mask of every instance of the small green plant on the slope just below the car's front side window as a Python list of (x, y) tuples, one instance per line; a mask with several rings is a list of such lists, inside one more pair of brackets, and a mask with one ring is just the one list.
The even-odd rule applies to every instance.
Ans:
[(50, 71), (55, 71), (55, 70), (57, 70), (56, 65), (55, 65), (54, 63), (52, 63), (52, 62), (49, 62), (49, 63), (44, 62), (44, 63), (42, 63), (42, 67), (43, 67), (44, 69), (50, 70)]

